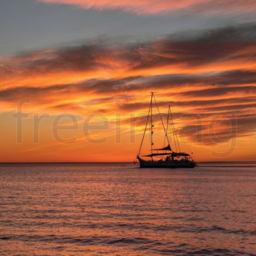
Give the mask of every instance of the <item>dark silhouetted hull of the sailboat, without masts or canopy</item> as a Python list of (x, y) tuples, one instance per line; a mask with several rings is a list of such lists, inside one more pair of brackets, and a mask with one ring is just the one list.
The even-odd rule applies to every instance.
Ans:
[(194, 161), (145, 161), (139, 156), (137, 157), (141, 168), (194, 168), (196, 163)]

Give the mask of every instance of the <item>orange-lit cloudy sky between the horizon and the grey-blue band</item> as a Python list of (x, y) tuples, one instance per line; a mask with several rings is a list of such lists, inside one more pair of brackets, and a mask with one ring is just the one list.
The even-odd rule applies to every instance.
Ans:
[[(165, 4), (157, 5), (155, 12)], [(142, 1), (127, 6), (118, 8), (153, 10)], [(254, 161), (253, 33), (255, 25), (246, 23), (142, 43), (99, 39), (2, 58), (0, 161), (131, 162), (139, 149), (151, 91), (156, 92), (164, 122), (171, 104), (181, 151), (193, 151), (196, 161)]]

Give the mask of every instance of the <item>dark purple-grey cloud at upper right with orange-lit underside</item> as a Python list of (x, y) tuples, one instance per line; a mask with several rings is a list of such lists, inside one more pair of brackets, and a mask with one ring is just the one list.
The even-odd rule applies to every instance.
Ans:
[(231, 60), (255, 60), (255, 29), (254, 24), (248, 24), (195, 33), (194, 36), (185, 33), (182, 36), (170, 36), (134, 49), (138, 52), (137, 58), (133, 60), (136, 63), (134, 68), (173, 65), (192, 68)]

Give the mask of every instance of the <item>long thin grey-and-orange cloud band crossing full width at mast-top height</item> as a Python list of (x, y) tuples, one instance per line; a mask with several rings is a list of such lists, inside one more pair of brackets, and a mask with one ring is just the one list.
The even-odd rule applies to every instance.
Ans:
[[(231, 78), (231, 74), (234, 75), (234, 79)], [(241, 78), (237, 74), (241, 74)], [(249, 74), (245, 78), (246, 74)], [(215, 75), (188, 75), (180, 74), (179, 76), (152, 76), (144, 78), (143, 77), (126, 77), (122, 79), (92, 79), (89, 81), (73, 84), (60, 84), (51, 85), (45, 87), (14, 87), (11, 89), (5, 89), (0, 91), (2, 101), (13, 102), (18, 101), (22, 98), (33, 98), (38, 103), (47, 103), (47, 99), (51, 99), (53, 102), (58, 101), (60, 95), (62, 99), (76, 98), (77, 95), (84, 93), (90, 93), (91, 95), (102, 95), (110, 93), (116, 95), (118, 99), (123, 99), (121, 106), (119, 108), (126, 110), (138, 110), (143, 109), (148, 106), (146, 102), (127, 102), (127, 93), (136, 93), (137, 91), (151, 91), (156, 87), (158, 90), (167, 90), (166, 95), (175, 96), (175, 98), (182, 98), (183, 101), (172, 101), (174, 106), (186, 106), (186, 107), (196, 107), (196, 106), (217, 106), (222, 104), (234, 103), (234, 106), (240, 106), (241, 103), (251, 103), (255, 99), (255, 86), (248, 86), (246, 84), (253, 83), (253, 77), (250, 77), (250, 72), (231, 72), (231, 73), (220, 73)], [(242, 84), (244, 81), (244, 84)], [(254, 80), (255, 81), (255, 80)], [(189, 85), (189, 86), (188, 86)], [(193, 85), (199, 85), (199, 90), (191, 91)], [(205, 86), (213, 86), (210, 89), (204, 89)], [(234, 86), (236, 85), (236, 86)], [(239, 85), (239, 86), (238, 86)], [(177, 91), (177, 89), (182, 91)], [(183, 90), (186, 90), (185, 92)], [(124, 95), (122, 95), (124, 94)], [(244, 97), (229, 98), (229, 95), (244, 95)], [(184, 98), (186, 97), (186, 99)], [(201, 99), (201, 100), (191, 100)], [(214, 97), (224, 97), (224, 99), (216, 99)], [(210, 98), (203, 100), (203, 98)], [(226, 98), (226, 99), (225, 99)], [(114, 98), (109, 98), (114, 101)], [(190, 99), (190, 100), (188, 100)], [(101, 98), (101, 102), (106, 101), (106, 98)], [(93, 99), (86, 102), (86, 104), (99, 103), (99, 99)], [(159, 102), (159, 106), (168, 105), (169, 101)], [(66, 103), (60, 104), (60, 106), (66, 106)]]

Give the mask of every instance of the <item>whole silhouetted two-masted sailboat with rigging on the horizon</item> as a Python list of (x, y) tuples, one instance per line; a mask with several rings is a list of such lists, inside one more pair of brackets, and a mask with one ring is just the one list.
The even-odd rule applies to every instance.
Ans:
[[(153, 131), (153, 129), (154, 129), (153, 99), (155, 102), (155, 106), (158, 110), (158, 115), (159, 115), (162, 125), (163, 125), (164, 136), (165, 136), (164, 144), (165, 144), (165, 142), (167, 143), (167, 146), (164, 145), (162, 148), (157, 148), (157, 149), (154, 148), (154, 142), (153, 142), (153, 134), (154, 134), (154, 131)], [(170, 146), (169, 138), (167, 135), (169, 116), (171, 117), (171, 125), (172, 125), (173, 138), (174, 138), (176, 151), (172, 150), (172, 148)], [(148, 130), (150, 133), (150, 140), (151, 140), (150, 141), (151, 142), (151, 153), (149, 155), (141, 156), (140, 155), (141, 148), (142, 148), (143, 140), (145, 138), (145, 134), (147, 131), (147, 127), (149, 126), (149, 123), (150, 123), (150, 129), (148, 129)], [(193, 154), (193, 153), (191, 153), (191, 154)], [(143, 159), (142, 157), (143, 158), (146, 157), (146, 159)], [(157, 159), (155, 159), (156, 157), (157, 157)], [(139, 151), (137, 154), (137, 158), (140, 162), (140, 167), (142, 167), (142, 168), (143, 167), (147, 167), (147, 168), (194, 168), (196, 166), (196, 163), (194, 162), (194, 159), (193, 159), (193, 157), (190, 156), (190, 154), (180, 151), (177, 133), (174, 129), (174, 123), (173, 123), (173, 119), (172, 119), (170, 105), (169, 105), (169, 111), (168, 111), (168, 116), (167, 116), (167, 126), (165, 129), (162, 116), (159, 112), (159, 109), (158, 109), (158, 106), (156, 103), (154, 92), (151, 92), (151, 100), (150, 100), (150, 105), (149, 105), (149, 110), (148, 110), (148, 118), (147, 118), (147, 122), (146, 122), (145, 131), (143, 133), (142, 141), (140, 144), (140, 148), (139, 148)]]

